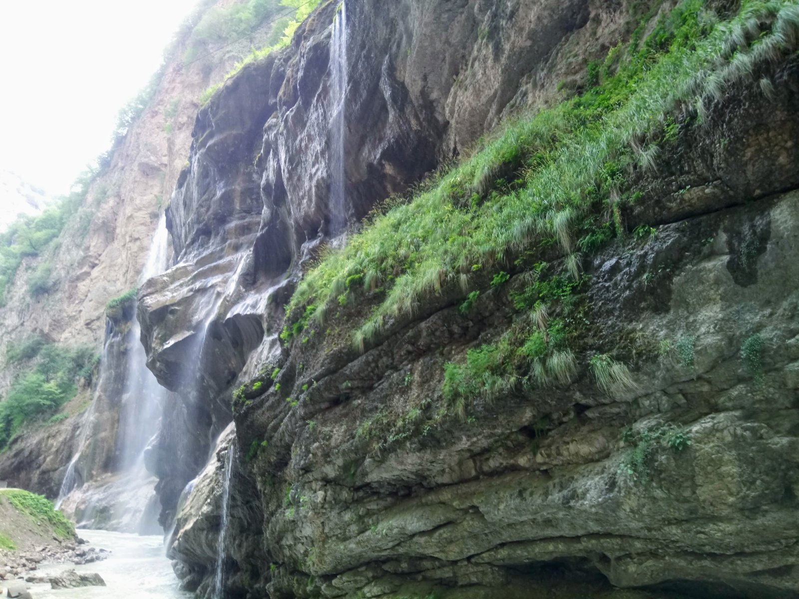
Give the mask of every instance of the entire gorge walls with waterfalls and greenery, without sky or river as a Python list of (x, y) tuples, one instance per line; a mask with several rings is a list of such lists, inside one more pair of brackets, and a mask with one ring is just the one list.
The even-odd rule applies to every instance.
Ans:
[(3, 275), (0, 407), (74, 388), (0, 411), (0, 479), (197, 597), (799, 597), (797, 2), (205, 2), (176, 44)]

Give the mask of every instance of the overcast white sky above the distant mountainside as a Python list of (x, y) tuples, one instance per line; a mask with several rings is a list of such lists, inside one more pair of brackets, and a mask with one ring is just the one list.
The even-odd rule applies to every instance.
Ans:
[(0, 0), (0, 169), (66, 192), (196, 2)]

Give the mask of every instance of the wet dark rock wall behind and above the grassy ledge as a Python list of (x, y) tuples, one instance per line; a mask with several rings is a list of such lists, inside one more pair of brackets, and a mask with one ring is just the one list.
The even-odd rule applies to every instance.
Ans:
[[(138, 312), (148, 365), (181, 398), (153, 446), (153, 455), (178, 456), (159, 474), (162, 522), (230, 421), (231, 383), (278, 355), (280, 307), (342, 216), (328, 197), (337, 10), (324, 2), (290, 48), (247, 65), (197, 116), (189, 166), (167, 211), (178, 264), (145, 284)], [(359, 51), (347, 54), (344, 69), (340, 211), (360, 219), (504, 114), (582, 77), (582, 59), (552, 64), (602, 53), (623, 34), (627, 10), (599, 2), (348, 3), (346, 43)], [(442, 45), (436, 32), (444, 30), (451, 43)], [(543, 30), (546, 40), (538, 39)], [(195, 426), (211, 433), (189, 434)]]

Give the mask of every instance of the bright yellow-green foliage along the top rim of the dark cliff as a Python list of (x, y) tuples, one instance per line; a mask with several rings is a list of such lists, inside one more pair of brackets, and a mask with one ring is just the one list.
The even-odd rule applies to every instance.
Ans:
[[(250, 62), (263, 60), (272, 52), (288, 46), (297, 27), (312, 13), (316, 6), (319, 6), (320, 2), (321, 0), (310, 0), (310, 2), (308, 0), (280, 0), (278, 4), (276, 0), (250, 0), (246, 5), (234, 4), (224, 10), (217, 9), (217, 12), (211, 10), (209, 11), (209, 19), (217, 21), (220, 25), (217, 25), (217, 28), (213, 30), (214, 33), (211, 37), (201, 43), (207, 44), (213, 41), (218, 43), (222, 41), (222, 38), (227, 39), (228, 36), (230, 36), (230, 39), (241, 38), (250, 31), (257, 29), (261, 22), (280, 15), (280, 18), (272, 23), (272, 33), (267, 38), (266, 46), (259, 49), (253, 48), (250, 54), (237, 62), (236, 65), (233, 65), (233, 69), (225, 75), (225, 81), (227, 81), (231, 77), (235, 77)], [(205, 37), (207, 35), (202, 23), (197, 26), (195, 32), (197, 30), (200, 30), (197, 34), (198, 36)], [(239, 33), (233, 34), (235, 31), (239, 31)], [(189, 48), (189, 54), (186, 54), (184, 60), (192, 59), (191, 57), (196, 53), (195, 46)], [(220, 83), (206, 89), (200, 96), (200, 104), (207, 104), (222, 85)]]

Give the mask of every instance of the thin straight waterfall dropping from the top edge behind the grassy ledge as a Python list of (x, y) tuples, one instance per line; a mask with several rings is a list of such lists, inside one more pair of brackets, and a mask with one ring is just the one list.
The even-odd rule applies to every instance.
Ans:
[(347, 228), (347, 203), (344, 198), (344, 109), (347, 95), (347, 5), (341, 2), (333, 20), (330, 42), (330, 236)]

